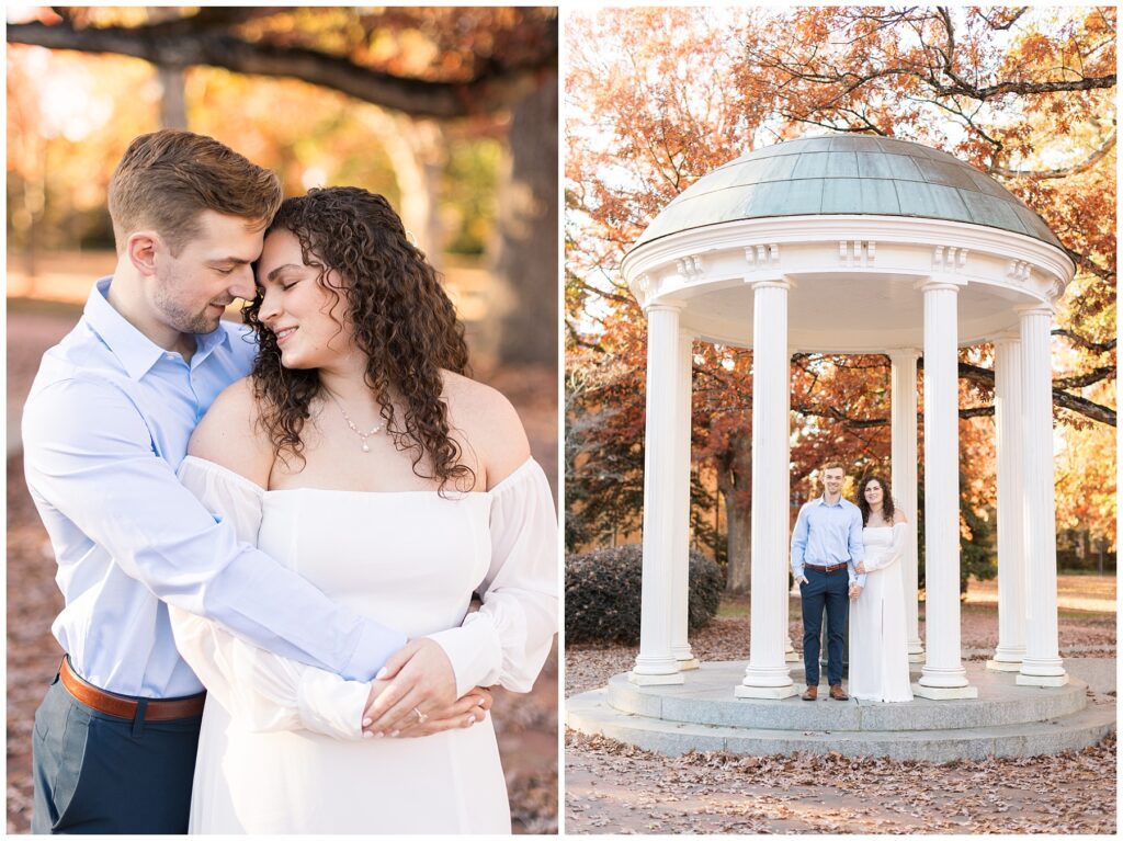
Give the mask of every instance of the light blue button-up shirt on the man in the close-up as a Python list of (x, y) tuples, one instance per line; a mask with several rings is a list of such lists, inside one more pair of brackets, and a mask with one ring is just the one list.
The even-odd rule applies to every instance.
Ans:
[(369, 679), (405, 637), (338, 607), (211, 515), (175, 478), (211, 402), (256, 346), (222, 322), (190, 364), (110, 305), (111, 278), (48, 350), (24, 408), (24, 469), (58, 561), (52, 625), (76, 671), (124, 695), (202, 685), (175, 650), (164, 602), (275, 653)]

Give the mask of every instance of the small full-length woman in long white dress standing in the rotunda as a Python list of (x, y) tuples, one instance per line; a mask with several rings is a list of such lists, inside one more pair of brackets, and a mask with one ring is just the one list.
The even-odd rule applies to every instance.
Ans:
[(861, 484), (866, 586), (850, 606), (850, 695), (866, 701), (912, 701), (901, 558), (910, 538), (903, 512), (880, 476)]

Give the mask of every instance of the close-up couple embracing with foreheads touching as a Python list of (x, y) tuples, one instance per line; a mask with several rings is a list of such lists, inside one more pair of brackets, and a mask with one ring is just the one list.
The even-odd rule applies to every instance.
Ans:
[(510, 832), (486, 687), (557, 627), (548, 482), (386, 200), (282, 198), (186, 131), (113, 173), (116, 269), (24, 413), (65, 601), (36, 833)]

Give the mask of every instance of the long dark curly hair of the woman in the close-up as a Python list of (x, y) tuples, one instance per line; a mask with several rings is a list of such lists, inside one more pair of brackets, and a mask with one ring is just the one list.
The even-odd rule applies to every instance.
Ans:
[[(411, 450), (413, 473), (438, 479), (441, 492), (448, 483), (471, 490), (475, 473), (460, 464), (441, 400), (441, 368), (468, 371), (464, 326), (390, 202), (358, 188), (310, 190), (281, 204), (266, 236), (275, 230), (300, 240), (304, 263), (319, 272), (316, 282), (335, 296), (328, 314), (340, 330), (336, 310), (344, 303), (355, 344), (367, 358), (366, 383), (382, 406), (384, 428), (399, 450)], [(329, 282), (329, 272), (338, 285)], [(261, 320), (262, 301), (258, 293), (244, 312), (259, 347), (250, 376), (261, 423), (277, 457), (291, 454), (303, 461), (301, 431), (320, 393), (320, 375), (281, 365), (276, 336)], [(392, 393), (404, 404), (401, 418)]]

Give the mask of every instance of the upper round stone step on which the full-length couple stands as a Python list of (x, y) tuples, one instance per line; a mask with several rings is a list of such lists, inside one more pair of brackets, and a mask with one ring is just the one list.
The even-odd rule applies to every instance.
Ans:
[[(626, 714), (683, 724), (789, 731), (926, 731), (990, 728), (1056, 719), (1079, 712), (1087, 703), (1087, 685), (1069, 677), (1059, 687), (1019, 686), (1015, 673), (992, 671), (983, 664), (965, 664), (977, 698), (931, 701), (916, 697), (904, 704), (833, 701), (821, 685), (819, 700), (748, 700), (733, 696), (745, 674), (743, 661), (704, 662), (683, 673), (681, 685), (637, 686), (627, 675), (609, 680), (605, 701)], [(915, 682), (919, 673), (913, 675)], [(803, 689), (803, 671), (792, 669)], [(846, 686), (846, 682), (843, 682)]]

